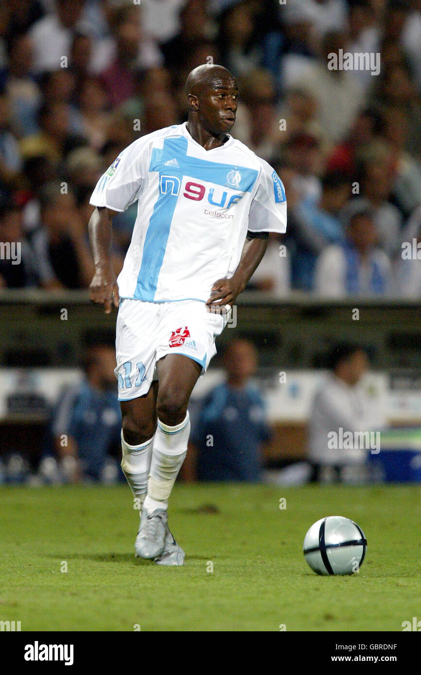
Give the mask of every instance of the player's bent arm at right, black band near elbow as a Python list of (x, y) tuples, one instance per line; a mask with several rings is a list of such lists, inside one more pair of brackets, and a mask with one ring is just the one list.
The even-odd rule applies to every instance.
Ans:
[[(268, 247), (268, 233), (247, 232), (241, 252), (241, 259), (230, 279), (218, 279), (211, 289), (211, 297), (206, 301), (210, 306), (234, 304), (237, 296), (245, 289), (247, 283)], [(219, 300), (219, 302), (218, 302)]]

